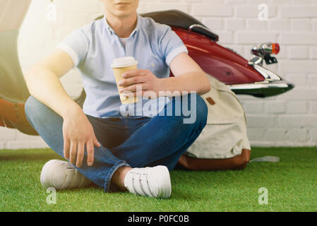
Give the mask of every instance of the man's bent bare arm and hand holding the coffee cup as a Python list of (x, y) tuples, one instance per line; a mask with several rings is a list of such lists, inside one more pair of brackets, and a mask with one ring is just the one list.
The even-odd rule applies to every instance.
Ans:
[[(185, 52), (179, 54), (175, 57), (170, 63), (170, 69), (174, 74), (174, 77), (169, 78), (157, 78), (151, 73), (150, 70), (146, 69), (136, 69), (127, 71), (122, 74), (124, 78), (120, 81), (119, 86), (122, 88), (119, 89), (120, 93), (125, 93), (126, 96), (134, 95), (144, 97), (150, 96), (150, 93), (147, 91), (152, 91), (156, 94), (156, 97), (160, 95), (167, 95), (166, 92), (177, 93), (186, 92), (196, 92), (199, 95), (209, 92), (210, 82), (198, 64), (189, 57)], [(142, 87), (142, 93), (136, 92), (137, 86)], [(162, 91), (162, 93), (159, 93)]]

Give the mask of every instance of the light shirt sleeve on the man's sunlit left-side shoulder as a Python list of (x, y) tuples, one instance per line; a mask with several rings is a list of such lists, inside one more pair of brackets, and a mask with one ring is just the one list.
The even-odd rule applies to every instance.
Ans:
[(74, 67), (85, 59), (89, 48), (87, 26), (78, 28), (56, 45), (55, 49), (64, 50), (73, 59)]

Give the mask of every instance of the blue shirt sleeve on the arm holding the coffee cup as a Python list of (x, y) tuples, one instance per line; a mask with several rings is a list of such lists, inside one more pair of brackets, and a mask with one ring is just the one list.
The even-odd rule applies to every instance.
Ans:
[(165, 25), (165, 30), (160, 38), (160, 49), (163, 56), (165, 57), (165, 62), (167, 66), (171, 63), (172, 59), (177, 57), (182, 52), (189, 53), (188, 49), (184, 45), (181, 38), (170, 28)]

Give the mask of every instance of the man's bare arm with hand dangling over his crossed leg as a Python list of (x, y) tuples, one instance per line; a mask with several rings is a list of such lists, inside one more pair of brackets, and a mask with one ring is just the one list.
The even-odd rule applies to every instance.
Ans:
[(94, 145), (99, 147), (92, 125), (80, 106), (66, 93), (59, 81), (71, 68), (73, 60), (57, 49), (25, 73), (30, 94), (63, 119), (64, 157), (80, 167), (87, 147), (87, 164), (94, 160)]

